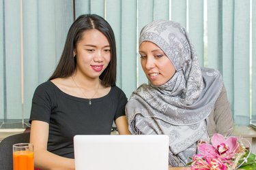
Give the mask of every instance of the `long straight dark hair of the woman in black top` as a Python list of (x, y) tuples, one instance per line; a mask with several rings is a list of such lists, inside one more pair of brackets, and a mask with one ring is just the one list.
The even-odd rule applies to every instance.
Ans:
[(74, 49), (76, 48), (78, 41), (82, 39), (84, 32), (89, 29), (97, 29), (103, 33), (109, 41), (111, 48), (111, 61), (100, 75), (100, 80), (102, 80), (102, 84), (104, 86), (115, 85), (117, 65), (115, 35), (110, 24), (104, 20), (104, 18), (96, 14), (81, 15), (76, 18), (74, 23), (71, 25), (59, 63), (49, 80), (53, 80), (55, 78), (67, 78), (74, 73), (76, 70), (76, 57), (73, 57)]

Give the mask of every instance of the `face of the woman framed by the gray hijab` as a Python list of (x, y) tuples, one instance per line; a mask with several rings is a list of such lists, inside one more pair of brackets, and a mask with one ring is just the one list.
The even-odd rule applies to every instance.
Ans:
[(175, 73), (173, 63), (156, 44), (143, 41), (139, 46), (139, 54), (141, 54), (141, 67), (154, 86), (165, 84), (173, 77)]

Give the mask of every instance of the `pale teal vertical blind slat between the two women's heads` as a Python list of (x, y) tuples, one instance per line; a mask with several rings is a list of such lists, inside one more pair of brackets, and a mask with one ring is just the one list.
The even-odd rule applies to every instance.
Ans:
[[(137, 88), (137, 1), (122, 1), (121, 77), (122, 89), (131, 94)], [(127, 39), (130, 39), (127, 41)], [(135, 56), (135, 57), (134, 57)]]

